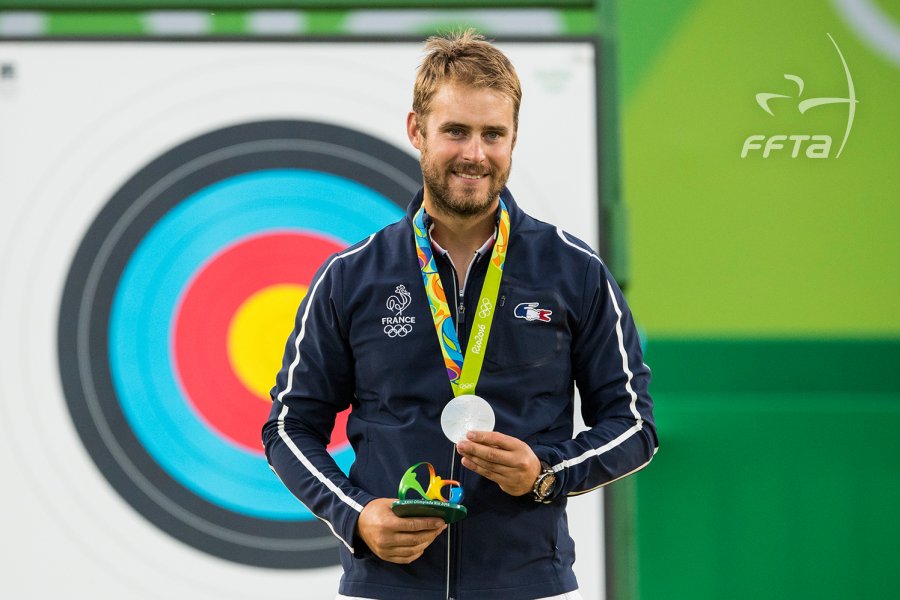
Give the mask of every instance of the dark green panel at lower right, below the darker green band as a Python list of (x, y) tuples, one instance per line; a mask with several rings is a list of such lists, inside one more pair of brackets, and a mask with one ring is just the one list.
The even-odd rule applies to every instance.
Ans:
[(661, 448), (636, 478), (640, 598), (900, 597), (900, 394), (655, 401)]

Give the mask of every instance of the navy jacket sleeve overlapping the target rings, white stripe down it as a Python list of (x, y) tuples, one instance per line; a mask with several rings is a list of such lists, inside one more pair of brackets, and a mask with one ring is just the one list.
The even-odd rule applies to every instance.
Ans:
[(297, 311), (262, 440), (285, 486), (354, 552), (359, 513), (374, 496), (355, 487), (327, 451), (335, 417), (354, 391), (341, 310), (341, 256), (335, 255), (320, 267)]

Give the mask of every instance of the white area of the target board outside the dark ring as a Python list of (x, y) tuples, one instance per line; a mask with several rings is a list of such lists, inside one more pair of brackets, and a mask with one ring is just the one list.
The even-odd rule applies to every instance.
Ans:
[[(509, 187), (531, 214), (596, 243), (593, 45), (500, 46), (524, 87)], [(212, 556), (154, 526), (116, 492), (66, 404), (60, 302), (99, 211), (149, 161), (186, 140), (238, 123), (303, 119), (358, 130), (415, 157), (404, 124), (420, 49), (0, 42), (0, 63), (13, 67), (0, 80), (3, 596), (333, 598), (338, 567), (268, 569)], [(601, 494), (573, 499), (569, 514), (584, 597), (602, 598)]]

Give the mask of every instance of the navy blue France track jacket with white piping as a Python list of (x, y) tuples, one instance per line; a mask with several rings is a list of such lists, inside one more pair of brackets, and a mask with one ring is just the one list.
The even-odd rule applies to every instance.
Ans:
[[(616, 282), (586, 244), (525, 214), (508, 190), (502, 198), (509, 250), (477, 393), (493, 407), (496, 431), (524, 440), (556, 471), (554, 498), (506, 494), (463, 468), (441, 431), (453, 392), (416, 258), (419, 192), (404, 219), (319, 269), (263, 427), (269, 464), (341, 542), (342, 594), (525, 600), (571, 591), (566, 497), (633, 473), (656, 452), (650, 371)], [(449, 260), (435, 260), (465, 348), (488, 256), (473, 262), (462, 297)], [(590, 429), (573, 439), (574, 385)], [(326, 451), (348, 406), (349, 476)], [(413, 563), (382, 561), (354, 535), (359, 513), (376, 497), (396, 498), (403, 473), (421, 461), (460, 481), (468, 517)]]

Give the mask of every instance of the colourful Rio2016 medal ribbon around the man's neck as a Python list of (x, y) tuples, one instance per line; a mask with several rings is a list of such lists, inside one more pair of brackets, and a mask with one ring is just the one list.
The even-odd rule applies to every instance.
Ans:
[(487, 275), (484, 277), (484, 285), (481, 286), (481, 293), (478, 296), (478, 305), (472, 311), (475, 318), (472, 320), (472, 330), (469, 333), (469, 345), (466, 348), (465, 357), (462, 354), (459, 337), (456, 335), (453, 313), (447, 304), (441, 276), (438, 274), (437, 265), (434, 262), (431, 240), (425, 229), (424, 206), (413, 218), (413, 230), (416, 235), (416, 254), (419, 257), (419, 267), (422, 269), (425, 294), (428, 296), (428, 304), (431, 306), (434, 329), (437, 331), (438, 342), (444, 355), (444, 365), (447, 368), (450, 385), (453, 387), (453, 395), (474, 394), (475, 385), (478, 383), (481, 367), (484, 364), (484, 353), (487, 349), (488, 336), (491, 333), (491, 323), (494, 320), (497, 296), (500, 293), (503, 264), (506, 262), (506, 250), (509, 245), (509, 212), (501, 199), (497, 239), (494, 241)]

